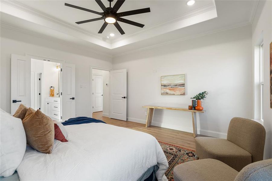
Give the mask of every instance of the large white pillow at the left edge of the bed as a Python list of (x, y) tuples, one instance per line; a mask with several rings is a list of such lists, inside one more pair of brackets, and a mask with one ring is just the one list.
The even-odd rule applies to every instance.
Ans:
[(20, 165), (27, 144), (22, 120), (1, 109), (0, 113), (0, 176), (11, 176)]

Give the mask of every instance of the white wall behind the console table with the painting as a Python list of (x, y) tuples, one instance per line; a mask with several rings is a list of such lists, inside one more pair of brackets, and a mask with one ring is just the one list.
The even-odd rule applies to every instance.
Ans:
[[(205, 113), (198, 132), (225, 138), (232, 117), (251, 118), (251, 26), (239, 27), (113, 59), (114, 70), (128, 71), (129, 121), (145, 123), (144, 105), (187, 108), (204, 90)], [(152, 73), (157, 69), (157, 73)], [(160, 76), (186, 74), (186, 95), (161, 95)], [(152, 125), (192, 132), (191, 114), (155, 110)]]

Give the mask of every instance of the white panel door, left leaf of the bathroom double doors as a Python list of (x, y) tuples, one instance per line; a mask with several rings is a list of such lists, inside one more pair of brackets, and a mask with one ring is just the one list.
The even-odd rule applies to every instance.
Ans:
[(31, 105), (31, 59), (11, 54), (11, 115), (20, 104)]

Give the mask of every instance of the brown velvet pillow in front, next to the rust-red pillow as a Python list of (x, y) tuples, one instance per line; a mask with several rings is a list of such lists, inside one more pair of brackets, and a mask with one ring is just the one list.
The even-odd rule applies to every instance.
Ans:
[(37, 151), (50, 154), (55, 136), (53, 120), (40, 110), (33, 113), (33, 109), (29, 108), (23, 125), (27, 143)]

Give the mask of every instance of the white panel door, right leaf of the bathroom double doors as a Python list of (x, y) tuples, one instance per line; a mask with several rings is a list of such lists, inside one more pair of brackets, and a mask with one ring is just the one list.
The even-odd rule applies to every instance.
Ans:
[(62, 121), (75, 117), (75, 65), (62, 63)]

